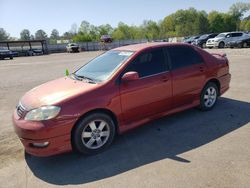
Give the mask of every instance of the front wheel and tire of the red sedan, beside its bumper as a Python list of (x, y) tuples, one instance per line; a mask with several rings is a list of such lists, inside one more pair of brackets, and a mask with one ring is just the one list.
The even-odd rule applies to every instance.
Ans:
[(116, 127), (110, 116), (93, 113), (81, 119), (72, 133), (73, 148), (79, 153), (92, 155), (111, 145)]

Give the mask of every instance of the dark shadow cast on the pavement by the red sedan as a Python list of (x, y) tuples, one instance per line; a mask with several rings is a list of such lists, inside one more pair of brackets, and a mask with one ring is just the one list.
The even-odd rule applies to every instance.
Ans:
[(166, 158), (190, 163), (178, 155), (246, 125), (249, 112), (250, 103), (220, 98), (212, 111), (190, 109), (118, 136), (98, 155), (39, 158), (26, 154), (25, 160), (36, 177), (55, 185), (93, 182)]

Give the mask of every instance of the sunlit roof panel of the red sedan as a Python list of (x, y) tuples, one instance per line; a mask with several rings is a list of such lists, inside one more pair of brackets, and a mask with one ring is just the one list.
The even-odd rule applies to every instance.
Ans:
[(148, 42), (141, 44), (132, 44), (127, 46), (122, 46), (118, 48), (114, 48), (113, 50), (119, 51), (141, 51), (147, 48), (155, 48), (155, 47), (164, 47), (164, 46), (191, 46), (190, 44), (185, 43), (168, 43), (168, 42)]

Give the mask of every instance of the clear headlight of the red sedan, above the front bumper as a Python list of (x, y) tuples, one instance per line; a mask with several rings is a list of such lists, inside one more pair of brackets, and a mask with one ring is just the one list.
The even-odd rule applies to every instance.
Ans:
[(58, 106), (43, 106), (29, 111), (24, 119), (31, 121), (48, 120), (56, 117), (60, 110), (61, 108)]

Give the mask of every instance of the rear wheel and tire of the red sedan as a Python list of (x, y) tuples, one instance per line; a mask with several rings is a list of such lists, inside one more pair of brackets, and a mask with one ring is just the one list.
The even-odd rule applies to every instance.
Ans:
[(209, 82), (201, 92), (199, 108), (202, 111), (211, 110), (215, 106), (218, 96), (219, 90), (217, 85), (213, 82)]

